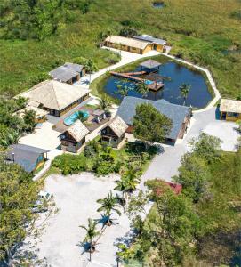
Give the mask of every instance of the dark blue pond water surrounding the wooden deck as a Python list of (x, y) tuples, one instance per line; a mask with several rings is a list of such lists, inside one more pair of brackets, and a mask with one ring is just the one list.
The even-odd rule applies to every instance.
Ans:
[[(137, 70), (140, 70), (140, 68), (135, 69), (135, 71)], [(149, 100), (165, 99), (173, 104), (182, 105), (184, 100), (179, 87), (181, 84), (189, 84), (191, 88), (186, 100), (186, 106), (191, 105), (192, 107), (200, 109), (204, 108), (205, 105), (211, 101), (212, 95), (209, 93), (207, 85), (205, 84), (205, 78), (199, 72), (190, 70), (175, 62), (167, 62), (161, 65), (158, 73), (163, 77), (169, 77), (164, 80), (164, 88), (157, 92), (149, 91), (144, 98)], [(118, 93), (117, 85), (125, 84), (126, 82), (124, 79), (111, 76), (108, 78), (104, 90), (111, 97), (121, 100), (123, 96)], [(136, 86), (133, 82), (128, 82), (127, 85), (132, 87), (132, 90), (128, 92), (129, 96), (143, 98), (143, 95), (136, 91)]]

